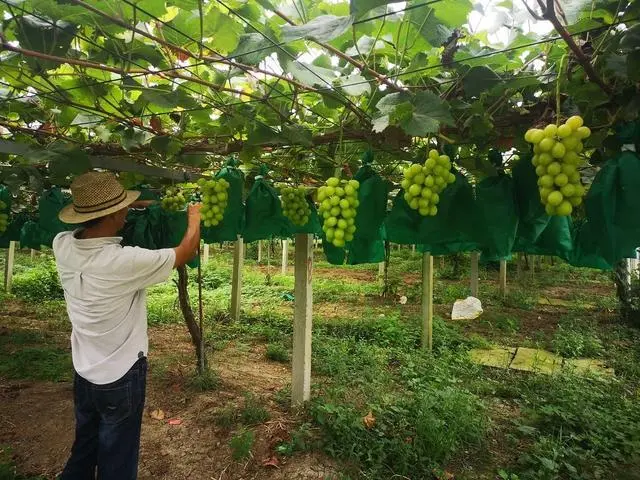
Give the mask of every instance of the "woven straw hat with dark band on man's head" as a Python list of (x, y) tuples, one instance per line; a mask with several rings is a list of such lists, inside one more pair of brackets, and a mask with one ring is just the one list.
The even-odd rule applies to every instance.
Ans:
[(125, 190), (108, 172), (89, 172), (71, 183), (73, 204), (64, 207), (60, 220), (64, 223), (84, 223), (106, 217), (136, 201), (140, 192)]

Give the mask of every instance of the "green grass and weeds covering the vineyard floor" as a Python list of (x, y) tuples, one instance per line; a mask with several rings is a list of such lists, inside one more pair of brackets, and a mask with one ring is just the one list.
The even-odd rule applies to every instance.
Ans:
[[(481, 328), (436, 317), (434, 349), (427, 353), (420, 348), (422, 320), (413, 313), (418, 311), (420, 285), (408, 285), (406, 281), (407, 277), (419, 277), (419, 253), (413, 254), (408, 248), (392, 251), (392, 290), (409, 297), (407, 306), (398, 305), (394, 297), (373, 301), (379, 293), (376, 280), (351, 281), (344, 274), (349, 270), (375, 273), (377, 265), (335, 267), (320, 254), (316, 257), (317, 267), (339, 270), (340, 274), (316, 274), (314, 301), (358, 303), (359, 308), (347, 306), (334, 318), (314, 315), (312, 401), (305, 415), (295, 417), (301, 423), (292, 427), (290, 438), (276, 447), (280, 455), (320, 449), (338, 460), (341, 478), (352, 480), (394, 475), (432, 478), (434, 469), (447, 470), (461, 460), (471, 468), (488, 463), (490, 470), (483, 470), (484, 478), (638, 479), (633, 472), (640, 471), (640, 331), (620, 324), (612, 313), (615, 296), (609, 273), (574, 269), (558, 261), (554, 266), (536, 268), (533, 283), (518, 285), (511, 280), (511, 267), (508, 296), (503, 300), (496, 287), (497, 270), (481, 265), (480, 299), (485, 312), (475, 321)], [(267, 359), (288, 363), (292, 302), (283, 296), (293, 293), (293, 276), (279, 274), (279, 255), (272, 255), (275, 261), (269, 274), (247, 262), (243, 272), (244, 312), (240, 321), (232, 323), (226, 315), (230, 259), (229, 252), (216, 250), (203, 269), (207, 345), (214, 350), (233, 345), (236, 351), (252, 351), (256, 345), (264, 345)], [(434, 262), (436, 303), (450, 305), (468, 295), (468, 255), (459, 260), (460, 276), (460, 272), (454, 275), (450, 258), (444, 269), (439, 261)], [(36, 262), (40, 268), (38, 265)], [(24, 267), (20, 274), (28, 276), (30, 268)], [(195, 280), (192, 273), (189, 291), (194, 308)], [(571, 289), (571, 306), (557, 311), (555, 307), (539, 307), (541, 292), (556, 285)], [(611, 294), (591, 294), (591, 286), (598, 286), (601, 292), (606, 291), (604, 285), (611, 286)], [(149, 289), (148, 298), (152, 325), (182, 322), (172, 283)], [(39, 303), (32, 307), (39, 317), (51, 318), (51, 330), (68, 330), (60, 300)], [(580, 303), (596, 308), (581, 308)], [(557, 315), (558, 327), (523, 331), (519, 312), (535, 312), (538, 308), (544, 308), (545, 315)], [(526, 315), (530, 317), (531, 313)], [(552, 327), (556, 323), (553, 321)], [(489, 347), (489, 339), (478, 333), (487, 330), (494, 342), (518, 338), (523, 345), (550, 348), (565, 357), (598, 357), (615, 368), (616, 379), (532, 375), (479, 367), (469, 362), (467, 350)], [(64, 378), (72, 370), (69, 353), (61, 345), (46, 334), (28, 330), (0, 335), (0, 376)], [(178, 357), (171, 355), (152, 357), (154, 379), (168, 377), (177, 361)], [(7, 373), (3, 375), (2, 369)], [(190, 387), (194, 391), (208, 390), (217, 386), (216, 380), (215, 375), (194, 377)], [(213, 423), (229, 434), (234, 432), (229, 440), (234, 458), (251, 456), (255, 434), (250, 428), (268, 420), (266, 402), (275, 402), (279, 409), (288, 411), (290, 398), (290, 385), (264, 398), (246, 392), (244, 398), (212, 414)], [(503, 402), (512, 407), (513, 417), (496, 417), (495, 405)], [(375, 424), (367, 427), (363, 417), (369, 412)], [(486, 442), (494, 430), (501, 440), (489, 448)], [(487, 456), (495, 449), (505, 451), (497, 458), (513, 461), (500, 463)], [(473, 470), (466, 477), (460, 476), (480, 477)]]

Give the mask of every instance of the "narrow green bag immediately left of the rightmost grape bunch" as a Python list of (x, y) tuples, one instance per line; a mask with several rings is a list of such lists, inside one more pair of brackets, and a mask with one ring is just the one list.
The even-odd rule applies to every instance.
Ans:
[(534, 253), (535, 242), (547, 227), (549, 216), (540, 201), (538, 176), (531, 163), (531, 154), (524, 154), (514, 165), (513, 188), (518, 206), (518, 230), (514, 252)]

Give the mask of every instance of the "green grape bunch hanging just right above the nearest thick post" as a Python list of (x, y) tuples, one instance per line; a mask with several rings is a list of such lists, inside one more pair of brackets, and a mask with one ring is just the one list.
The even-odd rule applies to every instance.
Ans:
[(319, 213), (322, 215), (324, 231), (327, 241), (336, 247), (344, 247), (346, 242), (353, 240), (356, 232), (356, 211), (358, 189), (357, 180), (339, 180), (331, 177), (326, 185), (318, 189)]

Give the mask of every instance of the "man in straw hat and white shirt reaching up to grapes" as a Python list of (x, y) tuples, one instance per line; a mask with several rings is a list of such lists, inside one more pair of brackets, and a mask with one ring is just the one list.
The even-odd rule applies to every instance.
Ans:
[[(60, 219), (78, 224), (53, 241), (72, 324), (76, 438), (62, 480), (137, 477), (147, 373), (145, 288), (191, 260), (200, 243), (200, 206), (190, 205), (176, 248), (122, 247), (117, 236), (140, 192), (110, 173), (71, 184), (72, 205)], [(140, 202), (144, 203), (144, 202)]]

